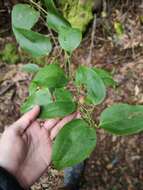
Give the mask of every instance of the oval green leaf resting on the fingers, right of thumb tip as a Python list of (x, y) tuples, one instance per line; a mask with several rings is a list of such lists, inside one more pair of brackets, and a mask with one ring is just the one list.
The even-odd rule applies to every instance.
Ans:
[(71, 101), (57, 101), (42, 107), (40, 118), (64, 117), (76, 111), (76, 104)]

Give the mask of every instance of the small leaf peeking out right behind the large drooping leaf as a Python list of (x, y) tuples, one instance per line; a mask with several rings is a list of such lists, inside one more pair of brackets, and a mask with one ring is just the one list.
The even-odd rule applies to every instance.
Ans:
[(100, 78), (103, 80), (105, 86), (112, 86), (115, 87), (116, 86), (116, 81), (114, 81), (112, 75), (103, 70), (103, 69), (99, 69), (99, 68), (93, 68), (93, 70), (100, 76)]

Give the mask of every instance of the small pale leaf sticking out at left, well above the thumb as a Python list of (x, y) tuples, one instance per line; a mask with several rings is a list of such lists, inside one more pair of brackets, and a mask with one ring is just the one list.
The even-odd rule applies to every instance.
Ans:
[(22, 71), (28, 72), (28, 73), (37, 73), (39, 71), (40, 67), (33, 63), (28, 63), (23, 65)]

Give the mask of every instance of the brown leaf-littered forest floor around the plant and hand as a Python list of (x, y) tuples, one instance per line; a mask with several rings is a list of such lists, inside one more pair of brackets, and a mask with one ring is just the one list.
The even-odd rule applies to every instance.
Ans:
[[(91, 24), (72, 58), (73, 69), (88, 63), (112, 72), (118, 83), (115, 89), (108, 90), (105, 102), (95, 108), (93, 117), (97, 122), (102, 110), (115, 102), (143, 104), (143, 23), (140, 21), (143, 4), (133, 4), (126, 12), (123, 9), (119, 5), (109, 18), (97, 20), (96, 28)], [(125, 27), (120, 39), (113, 27), (106, 28), (115, 20), (121, 20)], [(7, 42), (15, 43), (11, 36), (0, 38), (1, 50)], [(0, 133), (20, 116), (20, 105), (28, 95), (31, 75), (21, 71), (22, 65), (22, 62), (11, 65), (0, 61)], [(62, 185), (63, 172), (50, 166), (32, 189), (56, 190)], [(116, 137), (99, 129), (81, 190), (143, 190), (143, 133)]]

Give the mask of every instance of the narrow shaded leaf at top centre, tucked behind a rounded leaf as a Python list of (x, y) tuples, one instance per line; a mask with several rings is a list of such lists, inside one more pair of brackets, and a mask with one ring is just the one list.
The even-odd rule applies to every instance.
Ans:
[(44, 0), (48, 8), (47, 24), (48, 27), (60, 32), (61, 28), (70, 27), (69, 22), (58, 12), (53, 0)]

